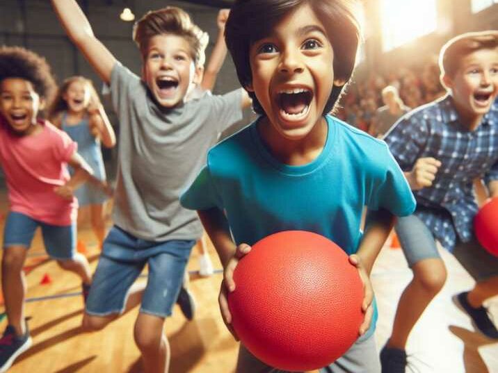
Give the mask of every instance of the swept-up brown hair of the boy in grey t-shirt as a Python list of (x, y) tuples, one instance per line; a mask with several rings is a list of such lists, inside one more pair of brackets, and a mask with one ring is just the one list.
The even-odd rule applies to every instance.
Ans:
[(204, 65), (206, 59), (204, 51), (209, 36), (191, 21), (190, 16), (184, 10), (175, 6), (167, 6), (145, 13), (136, 22), (133, 29), (133, 40), (144, 58), (150, 39), (161, 34), (177, 35), (184, 38), (191, 47), (191, 57), (195, 65)]

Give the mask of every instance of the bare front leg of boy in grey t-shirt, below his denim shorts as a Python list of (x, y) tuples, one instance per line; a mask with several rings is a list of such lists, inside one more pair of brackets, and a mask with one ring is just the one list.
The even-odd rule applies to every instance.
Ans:
[(168, 372), (170, 346), (163, 333), (163, 317), (140, 313), (135, 322), (135, 342), (142, 353), (145, 373)]

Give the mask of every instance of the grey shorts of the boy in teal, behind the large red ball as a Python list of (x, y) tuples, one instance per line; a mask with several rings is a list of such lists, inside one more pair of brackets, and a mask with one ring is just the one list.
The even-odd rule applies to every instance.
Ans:
[[(358, 338), (346, 353), (334, 363), (323, 367), (320, 373), (380, 373), (380, 361), (374, 335)], [(269, 365), (252, 355), (242, 344), (235, 373), (286, 373)]]

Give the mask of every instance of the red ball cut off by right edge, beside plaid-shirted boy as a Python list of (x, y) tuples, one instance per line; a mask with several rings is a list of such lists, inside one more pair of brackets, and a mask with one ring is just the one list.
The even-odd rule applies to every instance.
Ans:
[(479, 243), (498, 256), (498, 198), (485, 204), (474, 217), (474, 231)]

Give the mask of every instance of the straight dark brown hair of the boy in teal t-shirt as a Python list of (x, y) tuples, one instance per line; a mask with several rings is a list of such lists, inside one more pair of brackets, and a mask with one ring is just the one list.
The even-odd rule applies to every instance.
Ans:
[[(356, 0), (236, 0), (225, 26), (225, 40), (236, 67), (237, 76), (243, 87), (252, 81), (249, 51), (252, 44), (271, 33), (282, 18), (308, 4), (316, 17), (326, 27), (334, 50), (333, 69), (335, 78), (348, 82), (355, 67), (356, 53), (360, 44), (358, 12), (360, 3)], [(334, 85), (323, 113), (329, 113), (335, 106), (346, 84)], [(263, 108), (254, 92), (248, 92), (256, 113), (264, 115)]]

